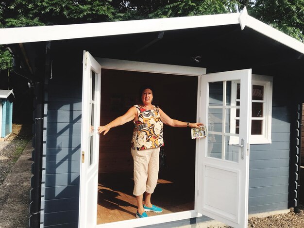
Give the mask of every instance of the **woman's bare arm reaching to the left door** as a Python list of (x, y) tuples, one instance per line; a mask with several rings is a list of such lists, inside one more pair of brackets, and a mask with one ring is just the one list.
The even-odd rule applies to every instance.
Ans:
[(103, 135), (105, 135), (106, 133), (108, 133), (108, 131), (111, 128), (115, 128), (119, 125), (123, 125), (123, 124), (133, 120), (135, 118), (136, 114), (137, 114), (136, 108), (133, 106), (125, 114), (117, 117), (115, 120), (111, 121), (107, 125), (99, 126), (98, 133), (101, 134), (104, 131)]

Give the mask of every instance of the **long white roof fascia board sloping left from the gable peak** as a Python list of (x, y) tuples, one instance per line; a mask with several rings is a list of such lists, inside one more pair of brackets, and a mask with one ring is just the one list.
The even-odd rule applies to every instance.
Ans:
[(0, 29), (0, 45), (239, 24), (240, 13)]

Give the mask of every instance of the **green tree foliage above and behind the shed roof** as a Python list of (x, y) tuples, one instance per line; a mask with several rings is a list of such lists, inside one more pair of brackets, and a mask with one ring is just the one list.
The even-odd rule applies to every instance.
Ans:
[[(0, 27), (235, 13), (245, 6), (249, 15), (304, 42), (304, 0), (6, 0)], [(0, 64), (9, 55), (1, 48)]]

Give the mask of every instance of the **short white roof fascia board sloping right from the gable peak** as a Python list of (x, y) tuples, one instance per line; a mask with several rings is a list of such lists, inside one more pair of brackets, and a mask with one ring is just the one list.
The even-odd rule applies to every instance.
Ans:
[(247, 16), (246, 26), (304, 54), (304, 44), (301, 41), (272, 28), (270, 25), (267, 25), (252, 16)]

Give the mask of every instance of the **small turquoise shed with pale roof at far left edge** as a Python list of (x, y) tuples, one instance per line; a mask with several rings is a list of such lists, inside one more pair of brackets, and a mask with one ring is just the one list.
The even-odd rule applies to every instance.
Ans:
[(0, 141), (12, 133), (13, 124), (13, 90), (0, 89)]

